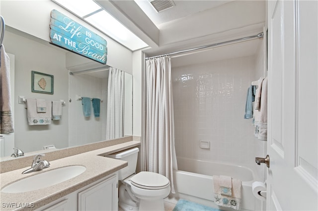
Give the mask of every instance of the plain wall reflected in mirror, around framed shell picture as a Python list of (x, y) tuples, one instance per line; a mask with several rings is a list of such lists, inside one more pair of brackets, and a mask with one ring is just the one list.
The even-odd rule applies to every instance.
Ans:
[[(68, 71), (65, 68), (65, 51), (52, 48), (15, 33), (5, 31), (3, 44), (7, 53), (15, 55), (14, 128), (15, 147), (24, 152), (43, 149), (55, 144), (68, 146)], [(54, 94), (31, 92), (31, 70), (54, 75)], [(48, 100), (63, 99), (62, 119), (51, 125), (28, 126), (24, 104), (18, 104), (19, 95), (26, 98)]]

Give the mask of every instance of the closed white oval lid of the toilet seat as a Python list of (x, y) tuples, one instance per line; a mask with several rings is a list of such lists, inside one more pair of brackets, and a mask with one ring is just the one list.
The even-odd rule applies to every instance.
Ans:
[(149, 171), (139, 172), (130, 179), (130, 182), (136, 187), (149, 190), (164, 189), (170, 185), (168, 178)]

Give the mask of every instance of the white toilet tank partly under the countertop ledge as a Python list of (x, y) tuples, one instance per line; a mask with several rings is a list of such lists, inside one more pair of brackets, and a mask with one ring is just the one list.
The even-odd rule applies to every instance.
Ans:
[(128, 162), (128, 166), (118, 171), (118, 180), (123, 180), (136, 172), (138, 152), (139, 148), (135, 147), (106, 155), (106, 157)]

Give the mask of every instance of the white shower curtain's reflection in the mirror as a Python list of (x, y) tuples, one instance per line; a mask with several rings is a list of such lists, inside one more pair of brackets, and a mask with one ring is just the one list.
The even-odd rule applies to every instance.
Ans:
[(124, 136), (124, 72), (109, 68), (106, 140)]

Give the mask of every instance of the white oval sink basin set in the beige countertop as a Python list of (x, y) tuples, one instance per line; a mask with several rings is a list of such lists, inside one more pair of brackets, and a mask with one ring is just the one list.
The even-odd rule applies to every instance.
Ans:
[(66, 166), (18, 180), (2, 188), (2, 193), (22, 193), (46, 188), (78, 176), (86, 170), (84, 166)]

